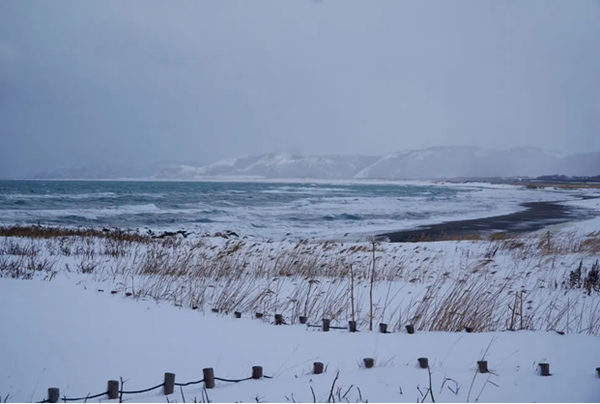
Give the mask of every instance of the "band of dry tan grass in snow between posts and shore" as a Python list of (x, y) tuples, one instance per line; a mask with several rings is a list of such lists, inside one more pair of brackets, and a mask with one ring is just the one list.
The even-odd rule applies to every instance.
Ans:
[[(261, 312), (265, 321), (281, 313), (287, 323), (304, 315), (313, 324), (330, 318), (345, 325), (354, 316), (365, 329), (371, 319), (371, 244), (213, 243), (63, 230), (4, 228), (12, 236), (0, 239), (0, 276), (75, 271), (133, 298), (219, 313)], [(412, 323), (428, 331), (600, 335), (600, 291), (584, 287), (597, 259), (598, 235), (503, 233), (452, 246), (378, 244), (373, 318), (390, 330)], [(570, 273), (578, 265), (585, 271), (572, 287)]]

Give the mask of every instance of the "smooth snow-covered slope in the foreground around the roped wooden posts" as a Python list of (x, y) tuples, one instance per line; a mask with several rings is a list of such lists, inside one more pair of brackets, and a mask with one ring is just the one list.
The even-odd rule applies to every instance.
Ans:
[[(82, 280), (62, 274), (52, 282), (0, 281), (3, 399), (10, 394), (9, 401), (41, 400), (47, 387), (59, 387), (61, 396), (85, 396), (104, 391), (107, 380), (120, 376), (126, 380), (125, 390), (160, 384), (164, 372), (188, 382), (201, 379), (204, 367), (213, 367), (217, 377), (245, 378), (252, 366), (261, 365), (273, 379), (217, 382), (208, 390), (210, 400), (312, 402), (312, 388), (323, 402), (339, 371), (336, 401), (346, 395), (349, 402), (361, 397), (415, 402), (429, 387), (427, 370), (416, 365), (421, 356), (429, 358), (436, 401), (600, 399), (598, 337), (528, 331), (324, 333), (123, 299), (77, 285)], [(375, 358), (375, 368), (361, 368), (364, 357)], [(476, 361), (484, 357), (493, 372), (488, 375), (476, 373)], [(325, 363), (327, 371), (311, 375), (314, 361)], [(550, 364), (552, 376), (538, 375), (540, 362)], [(183, 393), (187, 402), (202, 399), (199, 386), (185, 387)], [(167, 399), (160, 389), (124, 398)], [(179, 389), (168, 399), (183, 402)]]

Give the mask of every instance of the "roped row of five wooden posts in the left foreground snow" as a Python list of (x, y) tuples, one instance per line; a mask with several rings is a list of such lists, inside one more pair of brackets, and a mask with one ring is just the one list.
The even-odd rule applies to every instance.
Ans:
[(105, 391), (98, 394), (88, 394), (87, 396), (82, 397), (60, 397), (60, 390), (57, 387), (51, 387), (48, 389), (48, 396), (42, 400), (37, 401), (37, 403), (58, 403), (60, 401), (67, 402), (75, 402), (75, 401), (88, 401), (93, 400), (95, 398), (106, 397), (109, 400), (122, 399), (124, 395), (131, 394), (143, 394), (149, 393), (151, 391), (162, 388), (164, 395), (173, 394), (175, 391), (175, 387), (187, 387), (204, 383), (204, 388), (212, 389), (215, 387), (215, 381), (225, 382), (225, 383), (240, 383), (248, 380), (259, 380), (259, 379), (272, 379), (271, 376), (263, 375), (263, 370), (261, 366), (253, 366), (252, 367), (252, 375), (250, 377), (246, 377), (244, 379), (225, 379), (222, 377), (215, 377), (213, 368), (204, 368), (202, 370), (204, 373), (204, 377), (200, 380), (191, 381), (187, 383), (177, 383), (175, 382), (175, 374), (174, 373), (165, 373), (164, 381), (161, 384), (157, 384), (156, 386), (149, 387), (147, 389), (141, 390), (123, 390), (123, 381), (119, 382), (118, 380), (109, 380), (108, 387)]

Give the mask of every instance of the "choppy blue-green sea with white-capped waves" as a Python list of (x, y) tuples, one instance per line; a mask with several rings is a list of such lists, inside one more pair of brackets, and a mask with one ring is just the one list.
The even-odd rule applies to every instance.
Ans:
[(489, 184), (7, 180), (0, 181), (0, 224), (362, 240), (565, 199), (561, 192)]

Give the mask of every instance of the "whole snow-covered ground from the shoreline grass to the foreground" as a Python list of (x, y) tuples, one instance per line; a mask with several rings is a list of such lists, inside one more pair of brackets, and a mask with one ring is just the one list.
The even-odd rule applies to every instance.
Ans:
[[(597, 199), (570, 203), (600, 210)], [(186, 383), (205, 367), (241, 379), (260, 365), (272, 379), (123, 399), (598, 401), (599, 258), (599, 218), (495, 241), (375, 246), (0, 238), (0, 398), (39, 401), (48, 387), (85, 397), (119, 377), (126, 391), (145, 389), (165, 372)], [(272, 324), (277, 313), (287, 325)], [(336, 326), (354, 317), (359, 332), (325, 333), (300, 315)], [(381, 322), (389, 334), (377, 332)], [(374, 368), (361, 366), (366, 357)], [(476, 372), (482, 359), (491, 373)], [(315, 361), (324, 374), (311, 374)]]

